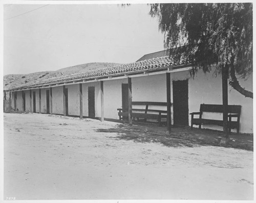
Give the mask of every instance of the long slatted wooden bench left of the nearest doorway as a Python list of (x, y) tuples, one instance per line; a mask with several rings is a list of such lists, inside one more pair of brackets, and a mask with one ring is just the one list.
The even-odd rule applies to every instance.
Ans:
[[(137, 121), (144, 121), (146, 122), (146, 119), (156, 119), (158, 121), (159, 126), (162, 125), (162, 118), (167, 118), (167, 111), (165, 110), (157, 110), (157, 109), (148, 109), (148, 106), (165, 106), (167, 108), (166, 102), (132, 102), (132, 106), (144, 106), (145, 109), (135, 109), (132, 108), (132, 118), (137, 119)], [(119, 119), (122, 120), (125, 117), (128, 117), (127, 110), (123, 109), (117, 109)], [(142, 118), (142, 119), (140, 119)]]

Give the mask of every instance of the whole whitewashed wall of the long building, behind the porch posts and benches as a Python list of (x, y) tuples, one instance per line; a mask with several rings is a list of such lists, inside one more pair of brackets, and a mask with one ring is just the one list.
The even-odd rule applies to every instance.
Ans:
[[(198, 112), (200, 104), (222, 104), (222, 82), (221, 76), (212, 76), (213, 73), (204, 74), (198, 71), (194, 79), (190, 78), (188, 71), (171, 73), (171, 80), (187, 80), (188, 79), (188, 110)], [(104, 81), (104, 117), (119, 119), (117, 108), (122, 107), (122, 83), (127, 83), (127, 79)], [(252, 91), (252, 77), (247, 81), (240, 81), (242, 87)], [(83, 116), (88, 116), (88, 87), (95, 87), (95, 117), (101, 117), (101, 101), (100, 101), (100, 82), (83, 83)], [(69, 99), (69, 115), (80, 114), (79, 104), (79, 84), (66, 85), (68, 88)], [(41, 112), (46, 113), (46, 90), (41, 89)], [(36, 112), (39, 112), (39, 90), (36, 92)], [(26, 110), (30, 109), (29, 90), (26, 93)], [(63, 93), (62, 86), (52, 88), (53, 97), (53, 114), (63, 114)], [(33, 98), (32, 98), (33, 99)], [(166, 74), (158, 74), (144, 77), (132, 78), (132, 100), (140, 102), (166, 102)], [(171, 83), (171, 102), (173, 102), (173, 85)], [(241, 105), (240, 132), (253, 133), (253, 100), (246, 98), (236, 90), (228, 87), (228, 104)], [(12, 107), (14, 108), (14, 92), (12, 92)], [(22, 91), (17, 92), (17, 108), (22, 110)], [(156, 107), (150, 107), (156, 108)], [(166, 107), (158, 107), (166, 109)], [(33, 111), (33, 103), (32, 103)], [(189, 125), (190, 125), (190, 116)], [(222, 119), (220, 113), (204, 113), (203, 117)], [(173, 107), (172, 107), (172, 123), (173, 123)], [(196, 128), (198, 126), (195, 126)], [(203, 125), (203, 128), (212, 128), (222, 130), (222, 126)], [(236, 130), (233, 130), (236, 131)]]

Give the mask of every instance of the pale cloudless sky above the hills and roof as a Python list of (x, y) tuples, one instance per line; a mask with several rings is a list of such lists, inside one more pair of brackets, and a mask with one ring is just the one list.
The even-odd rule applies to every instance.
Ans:
[(163, 50), (149, 11), (146, 4), (4, 5), (4, 75), (132, 63)]

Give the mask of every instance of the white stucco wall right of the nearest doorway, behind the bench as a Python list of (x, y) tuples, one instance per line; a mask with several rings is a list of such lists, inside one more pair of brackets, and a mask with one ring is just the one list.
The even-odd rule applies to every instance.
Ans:
[[(252, 91), (252, 77), (247, 81), (239, 80), (242, 87)], [(188, 100), (189, 113), (197, 112), (200, 109), (200, 104), (222, 104), (222, 80), (221, 75), (213, 77), (213, 72), (204, 74), (199, 71), (194, 80), (189, 79), (188, 85)], [(240, 117), (240, 132), (253, 133), (253, 100), (246, 98), (236, 90), (228, 86), (228, 105), (241, 105)], [(222, 119), (222, 114), (219, 113), (205, 113), (203, 117), (210, 116), (212, 118)], [(190, 125), (190, 118), (189, 118)], [(203, 125), (202, 128), (222, 130), (222, 126)], [(235, 130), (232, 130), (236, 132)]]

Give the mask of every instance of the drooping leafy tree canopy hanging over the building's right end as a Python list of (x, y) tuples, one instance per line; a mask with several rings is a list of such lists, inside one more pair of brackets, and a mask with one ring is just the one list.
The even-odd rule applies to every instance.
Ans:
[[(170, 56), (195, 60), (204, 72), (216, 67), (229, 72), (229, 84), (246, 97), (237, 76), (252, 73), (252, 4), (151, 4), (150, 15), (159, 18)], [(185, 45), (184, 45), (185, 44)], [(183, 45), (183, 46), (182, 46)], [(179, 48), (175, 48), (179, 47)]]

